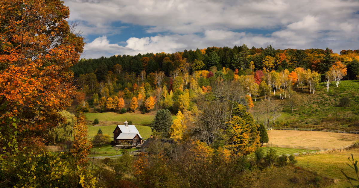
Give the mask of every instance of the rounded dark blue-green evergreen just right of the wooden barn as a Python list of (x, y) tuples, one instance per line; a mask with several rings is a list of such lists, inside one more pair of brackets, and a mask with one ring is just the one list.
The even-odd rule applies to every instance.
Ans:
[(156, 112), (151, 129), (156, 130), (167, 137), (172, 124), (171, 112), (167, 109), (161, 109)]

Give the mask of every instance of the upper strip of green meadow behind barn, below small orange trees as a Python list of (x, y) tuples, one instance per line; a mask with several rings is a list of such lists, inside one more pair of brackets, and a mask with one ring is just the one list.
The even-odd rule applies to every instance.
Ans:
[[(108, 125), (108, 124), (117, 124), (123, 125), (123, 122), (126, 120), (128, 122), (132, 121), (133, 125), (143, 125), (150, 124), (153, 121), (154, 115), (146, 115), (146, 114), (135, 114), (135, 113), (125, 113), (125, 114), (117, 114), (114, 112), (106, 112), (106, 113), (87, 113), (86, 114), (88, 120), (98, 119), (99, 124)], [(172, 116), (172, 119), (176, 119), (176, 116)]]

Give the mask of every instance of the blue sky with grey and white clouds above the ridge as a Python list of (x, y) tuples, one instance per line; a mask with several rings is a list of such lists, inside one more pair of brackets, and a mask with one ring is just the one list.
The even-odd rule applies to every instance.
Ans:
[(359, 49), (358, 0), (64, 0), (81, 58), (207, 47)]

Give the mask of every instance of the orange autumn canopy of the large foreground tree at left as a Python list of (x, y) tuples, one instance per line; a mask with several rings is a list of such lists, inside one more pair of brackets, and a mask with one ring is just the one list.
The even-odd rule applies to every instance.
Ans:
[(21, 132), (43, 136), (63, 120), (76, 88), (69, 68), (83, 51), (63, 1), (0, 2), (0, 122), (17, 116)]

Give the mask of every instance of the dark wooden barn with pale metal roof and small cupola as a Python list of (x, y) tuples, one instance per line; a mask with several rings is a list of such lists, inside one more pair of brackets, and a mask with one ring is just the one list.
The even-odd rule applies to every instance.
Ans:
[(124, 125), (117, 125), (113, 131), (113, 144), (137, 146), (142, 144), (142, 137), (135, 125), (129, 125), (125, 121)]

